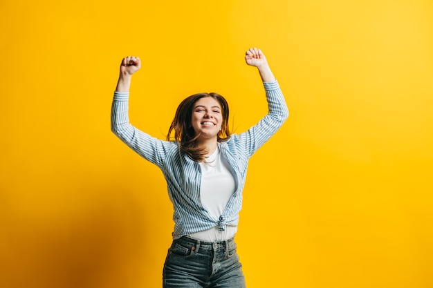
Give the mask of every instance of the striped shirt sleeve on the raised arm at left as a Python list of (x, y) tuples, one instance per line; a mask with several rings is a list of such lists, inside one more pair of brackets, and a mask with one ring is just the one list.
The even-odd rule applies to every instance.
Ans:
[(129, 123), (129, 93), (115, 92), (111, 106), (111, 131), (138, 155), (159, 168), (163, 166), (167, 150), (174, 142), (158, 140)]

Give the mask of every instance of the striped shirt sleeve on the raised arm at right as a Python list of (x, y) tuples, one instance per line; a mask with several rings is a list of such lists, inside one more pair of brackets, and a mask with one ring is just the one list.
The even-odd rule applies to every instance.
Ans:
[(288, 108), (278, 81), (264, 82), (268, 114), (248, 131), (239, 134), (239, 143), (251, 157), (272, 137), (288, 117)]

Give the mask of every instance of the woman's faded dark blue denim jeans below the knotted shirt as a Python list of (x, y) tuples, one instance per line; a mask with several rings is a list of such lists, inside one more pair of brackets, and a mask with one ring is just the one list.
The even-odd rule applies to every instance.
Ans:
[(203, 242), (183, 236), (165, 259), (163, 288), (245, 288), (233, 239)]

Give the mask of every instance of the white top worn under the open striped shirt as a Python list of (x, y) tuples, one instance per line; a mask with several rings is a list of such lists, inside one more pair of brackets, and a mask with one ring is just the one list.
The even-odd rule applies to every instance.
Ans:
[[(200, 162), (201, 167), (201, 189), (200, 198), (203, 207), (216, 220), (223, 214), (228, 201), (232, 197), (236, 182), (227, 160), (222, 157), (219, 148), (216, 147), (206, 162)], [(192, 233), (189, 237), (208, 242), (228, 240), (237, 231), (236, 226), (227, 225), (225, 231), (219, 231), (216, 226), (212, 229)]]

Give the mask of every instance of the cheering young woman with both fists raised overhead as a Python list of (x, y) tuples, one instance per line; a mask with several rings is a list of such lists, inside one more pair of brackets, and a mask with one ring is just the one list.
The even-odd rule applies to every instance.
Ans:
[(163, 269), (165, 288), (245, 287), (234, 235), (248, 160), (288, 117), (282, 91), (264, 54), (250, 48), (245, 59), (259, 70), (268, 114), (248, 131), (232, 135), (225, 99), (216, 93), (195, 94), (178, 106), (167, 140), (129, 124), (129, 86), (141, 62), (138, 57), (122, 59), (111, 130), (156, 164), (167, 180), (174, 232)]

